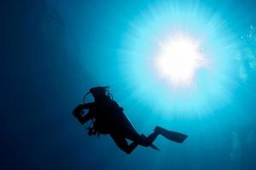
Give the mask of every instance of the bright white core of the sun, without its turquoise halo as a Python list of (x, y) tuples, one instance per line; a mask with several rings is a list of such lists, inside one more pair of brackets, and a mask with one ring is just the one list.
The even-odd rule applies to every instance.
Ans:
[(201, 43), (191, 37), (177, 34), (159, 42), (159, 52), (154, 60), (160, 77), (175, 86), (188, 86), (195, 73), (206, 64), (201, 53)]

